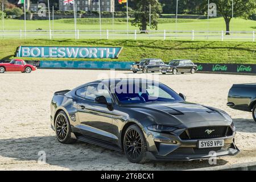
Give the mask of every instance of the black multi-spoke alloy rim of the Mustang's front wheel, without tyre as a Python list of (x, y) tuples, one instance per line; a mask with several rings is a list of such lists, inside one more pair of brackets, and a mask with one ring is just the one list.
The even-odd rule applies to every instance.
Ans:
[(137, 159), (142, 152), (142, 140), (138, 131), (131, 129), (125, 136), (125, 150), (131, 159)]

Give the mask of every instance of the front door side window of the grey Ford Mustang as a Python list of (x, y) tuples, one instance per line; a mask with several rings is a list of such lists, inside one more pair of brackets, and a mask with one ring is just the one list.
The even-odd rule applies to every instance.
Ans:
[(86, 90), (85, 98), (94, 101), (98, 96), (104, 96), (108, 102), (112, 102), (112, 97), (107, 89), (98, 89), (98, 85), (89, 85)]

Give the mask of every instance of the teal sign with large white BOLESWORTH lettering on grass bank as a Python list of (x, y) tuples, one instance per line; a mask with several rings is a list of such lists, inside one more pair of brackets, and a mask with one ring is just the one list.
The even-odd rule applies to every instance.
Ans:
[(20, 46), (17, 57), (116, 59), (122, 47)]

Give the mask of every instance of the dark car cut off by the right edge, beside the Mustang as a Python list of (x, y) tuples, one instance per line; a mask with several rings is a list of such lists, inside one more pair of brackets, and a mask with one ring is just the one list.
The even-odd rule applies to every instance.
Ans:
[(227, 105), (233, 109), (252, 112), (256, 122), (256, 83), (234, 84), (229, 90)]

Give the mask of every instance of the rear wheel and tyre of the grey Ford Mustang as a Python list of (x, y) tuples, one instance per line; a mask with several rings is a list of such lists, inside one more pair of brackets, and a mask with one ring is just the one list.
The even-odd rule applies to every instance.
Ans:
[(55, 119), (55, 134), (60, 143), (76, 142), (76, 139), (71, 138), (71, 125), (64, 111), (60, 111)]

